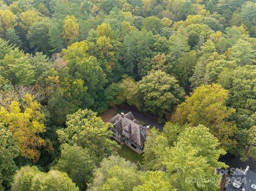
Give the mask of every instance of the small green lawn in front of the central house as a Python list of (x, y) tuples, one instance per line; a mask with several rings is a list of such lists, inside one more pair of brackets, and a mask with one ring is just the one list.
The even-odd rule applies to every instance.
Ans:
[(134, 163), (140, 162), (142, 164), (142, 155), (136, 153), (133, 151), (130, 147), (127, 145), (123, 145), (121, 149), (117, 151), (118, 155), (123, 157), (124, 159), (127, 159), (129, 161), (132, 161)]

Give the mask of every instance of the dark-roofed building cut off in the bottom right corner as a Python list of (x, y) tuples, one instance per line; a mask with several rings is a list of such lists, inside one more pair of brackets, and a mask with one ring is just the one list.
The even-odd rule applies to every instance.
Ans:
[(256, 191), (256, 173), (249, 170), (236, 169), (228, 182), (226, 191)]

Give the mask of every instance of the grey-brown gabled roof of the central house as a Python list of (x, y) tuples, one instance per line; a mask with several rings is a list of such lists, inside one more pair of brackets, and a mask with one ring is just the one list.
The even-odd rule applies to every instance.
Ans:
[(109, 122), (114, 124), (120, 135), (129, 138), (132, 142), (140, 146), (144, 145), (146, 141), (146, 129), (138, 124), (132, 112), (124, 115), (118, 113)]

